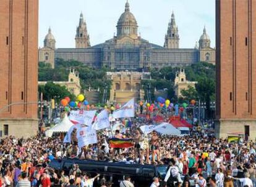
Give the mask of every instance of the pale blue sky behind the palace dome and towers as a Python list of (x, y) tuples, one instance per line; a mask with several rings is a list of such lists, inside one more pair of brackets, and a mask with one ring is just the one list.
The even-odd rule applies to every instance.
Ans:
[[(113, 38), (117, 21), (124, 12), (126, 0), (40, 0), (39, 41), (51, 26), (57, 48), (75, 47), (75, 30), (83, 13), (91, 45)], [(179, 28), (180, 48), (194, 48), (203, 26), (215, 47), (215, 0), (129, 0), (143, 39), (163, 46), (171, 13)]]

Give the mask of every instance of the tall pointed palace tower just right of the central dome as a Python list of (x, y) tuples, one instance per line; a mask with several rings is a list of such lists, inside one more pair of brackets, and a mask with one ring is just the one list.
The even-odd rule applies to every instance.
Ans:
[(167, 34), (165, 35), (164, 48), (179, 49), (179, 32), (176, 26), (174, 13), (171, 14), (171, 22), (168, 24)]

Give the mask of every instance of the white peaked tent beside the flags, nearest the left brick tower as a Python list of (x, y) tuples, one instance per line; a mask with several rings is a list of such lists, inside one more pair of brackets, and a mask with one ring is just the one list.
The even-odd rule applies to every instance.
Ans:
[(65, 117), (59, 124), (55, 125), (53, 128), (45, 132), (46, 137), (51, 137), (54, 132), (68, 132), (70, 127), (72, 127), (73, 125), (74, 124), (69, 120), (69, 117), (67, 117), (67, 114), (65, 114)]

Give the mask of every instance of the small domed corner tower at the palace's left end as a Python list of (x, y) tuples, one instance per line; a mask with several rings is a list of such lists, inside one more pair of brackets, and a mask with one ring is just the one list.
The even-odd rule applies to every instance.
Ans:
[(51, 33), (51, 28), (49, 28), (48, 34), (46, 34), (45, 40), (43, 41), (43, 48), (38, 50), (38, 62), (49, 63), (51, 68), (54, 68), (55, 44), (55, 38)]

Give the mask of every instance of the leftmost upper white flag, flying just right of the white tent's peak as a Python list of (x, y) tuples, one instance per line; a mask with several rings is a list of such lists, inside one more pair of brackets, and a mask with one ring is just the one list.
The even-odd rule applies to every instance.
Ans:
[(69, 120), (74, 124), (84, 124), (87, 126), (92, 125), (93, 117), (95, 116), (96, 110), (92, 111), (70, 111)]

